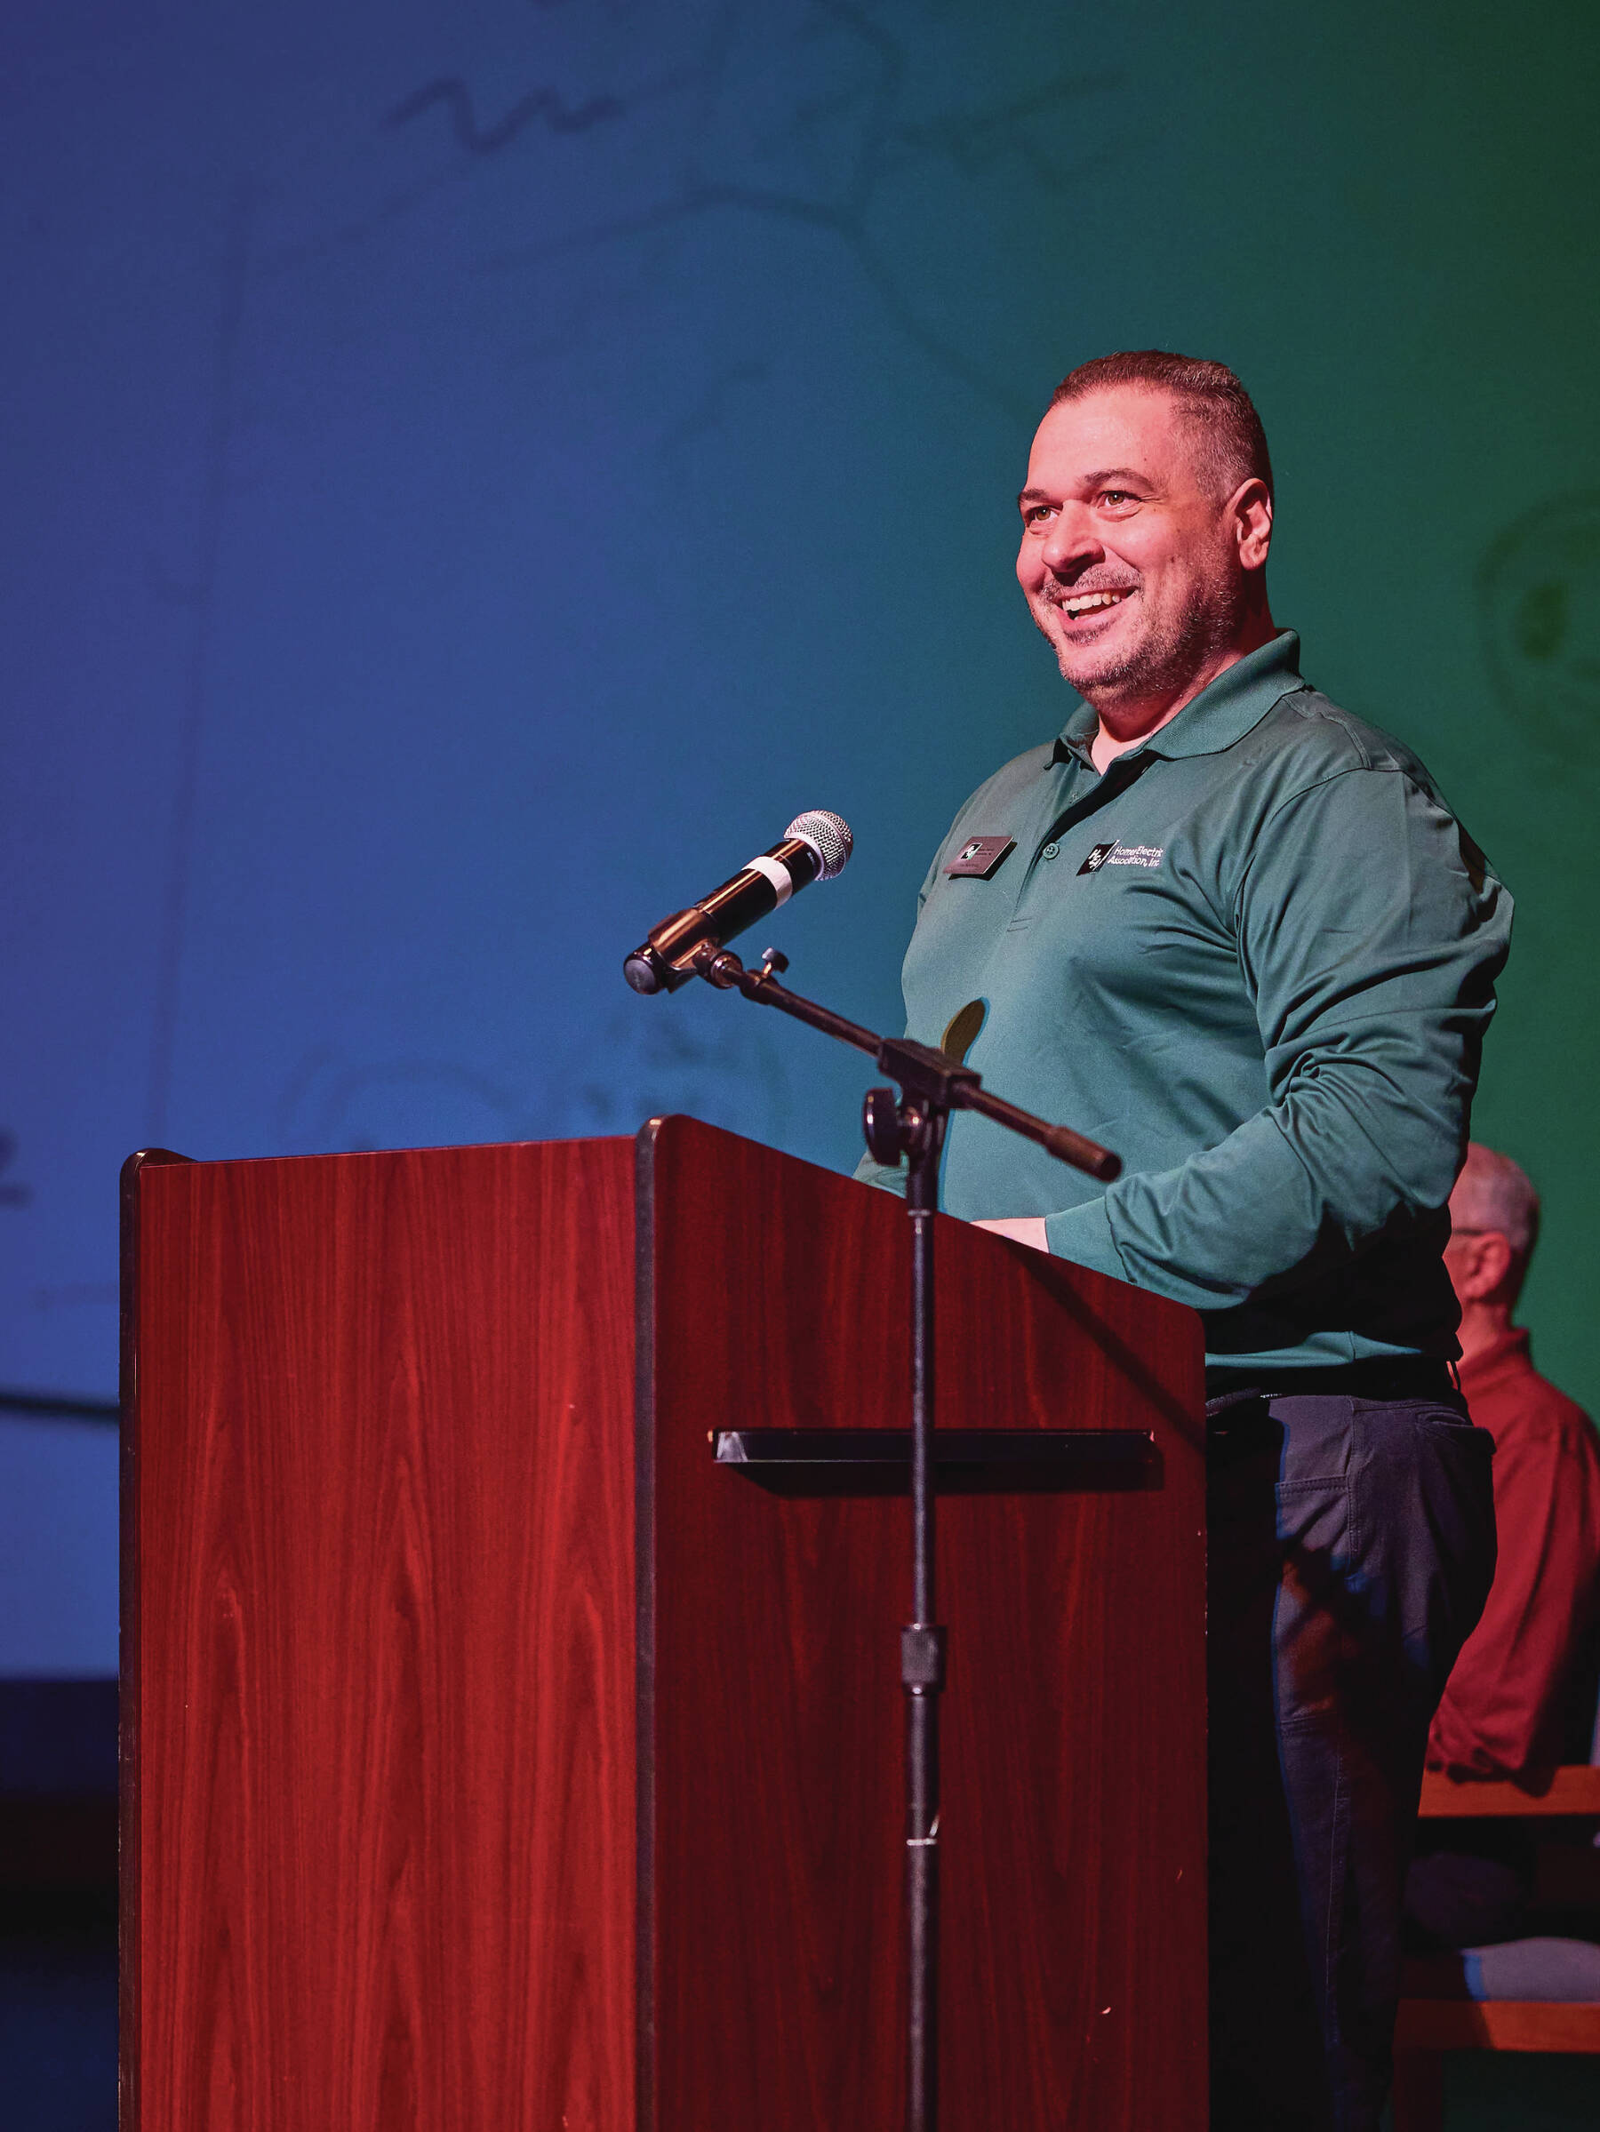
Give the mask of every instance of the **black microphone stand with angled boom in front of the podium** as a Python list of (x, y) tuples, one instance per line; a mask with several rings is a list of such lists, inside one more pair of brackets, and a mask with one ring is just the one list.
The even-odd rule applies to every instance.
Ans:
[(945, 1631), (934, 1620), (934, 1213), (939, 1156), (951, 1111), (977, 1111), (996, 1126), (1109, 1183), (1122, 1164), (1071, 1126), (1050, 1126), (1001, 1096), (990, 1096), (971, 1066), (909, 1036), (875, 1036), (860, 1021), (802, 998), (779, 983), (787, 955), (766, 949), (759, 970), (704, 942), (689, 957), (698, 976), (719, 991), (777, 1006), (843, 1045), (866, 1051), (900, 1083), (866, 1092), (862, 1130), (868, 1153), (883, 1164), (909, 1158), (911, 1215), (911, 1622), (900, 1629), (900, 1686), (907, 1697), (907, 2132), (939, 2123), (939, 1693), (945, 1686)]

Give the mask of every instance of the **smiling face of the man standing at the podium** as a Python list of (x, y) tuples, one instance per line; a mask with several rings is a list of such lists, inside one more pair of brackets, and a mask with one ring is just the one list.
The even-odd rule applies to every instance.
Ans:
[(1039, 424), (1018, 582), (1097, 710), (1182, 695), (1237, 642), (1261, 599), (1271, 505), (1261, 482), (1225, 486), (1199, 424), (1163, 390), (1105, 386)]

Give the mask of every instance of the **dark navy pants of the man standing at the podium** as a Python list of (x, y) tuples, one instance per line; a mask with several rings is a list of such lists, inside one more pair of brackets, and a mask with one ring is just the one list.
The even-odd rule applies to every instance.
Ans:
[(1212, 1403), (1212, 2132), (1378, 2128), (1427, 1725), (1493, 1576), (1489, 1460), (1453, 1392)]

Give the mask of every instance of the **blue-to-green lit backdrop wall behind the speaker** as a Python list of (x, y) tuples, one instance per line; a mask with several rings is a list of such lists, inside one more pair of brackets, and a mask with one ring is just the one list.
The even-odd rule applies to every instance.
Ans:
[[(141, 1143), (687, 1109), (853, 1162), (851, 1055), (621, 955), (830, 806), (774, 936), (896, 1021), (932, 844), (1069, 708), (1033, 422), (1165, 345), (1259, 399), (1308, 674), (1517, 893), (1476, 1130), (1598, 1407), (1598, 60), (1594, 9), (1434, 0), (17, 0), (0, 1384), (113, 1390)], [(60, 1576), (0, 1571), (0, 1671), (115, 1663), (111, 1463), (0, 1422)]]

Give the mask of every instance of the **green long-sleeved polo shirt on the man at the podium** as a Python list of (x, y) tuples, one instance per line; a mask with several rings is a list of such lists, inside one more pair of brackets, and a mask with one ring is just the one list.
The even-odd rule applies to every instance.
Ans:
[(943, 1205), (1043, 1215), (1060, 1258), (1195, 1305), (1216, 1364), (1449, 1358), (1446, 1200), (1510, 895), (1417, 757), (1297, 657), (1293, 631), (1263, 644), (1105, 774), (1079, 706), (956, 817), (907, 1034), (937, 1045), (981, 1000), (986, 1085), (1124, 1170), (1101, 1188), (958, 1113)]

